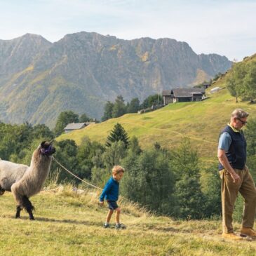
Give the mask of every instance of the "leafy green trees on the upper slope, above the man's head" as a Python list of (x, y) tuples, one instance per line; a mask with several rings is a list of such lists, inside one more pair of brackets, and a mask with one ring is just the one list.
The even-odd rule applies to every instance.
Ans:
[(229, 93), (241, 100), (254, 102), (256, 97), (256, 61), (235, 63), (227, 74), (227, 89)]

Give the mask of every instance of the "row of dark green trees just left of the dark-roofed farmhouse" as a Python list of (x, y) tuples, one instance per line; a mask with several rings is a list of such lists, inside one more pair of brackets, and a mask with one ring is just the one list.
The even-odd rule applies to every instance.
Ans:
[(163, 96), (159, 94), (149, 95), (142, 104), (140, 104), (140, 100), (137, 97), (130, 100), (130, 102), (125, 103), (123, 96), (118, 95), (114, 102), (108, 101), (105, 104), (102, 121), (123, 116), (123, 114), (137, 113), (140, 109), (147, 109), (152, 105), (156, 106), (162, 104)]

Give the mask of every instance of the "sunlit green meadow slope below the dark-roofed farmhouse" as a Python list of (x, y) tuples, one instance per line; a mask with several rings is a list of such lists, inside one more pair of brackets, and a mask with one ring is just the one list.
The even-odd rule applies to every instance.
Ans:
[[(215, 86), (224, 87), (224, 78)], [(214, 86), (213, 86), (214, 87)], [(213, 88), (212, 87), (212, 88)], [(83, 137), (90, 137), (105, 143), (107, 135), (116, 122), (126, 129), (128, 135), (137, 136), (142, 148), (151, 147), (159, 142), (163, 147), (173, 148), (186, 136), (198, 148), (201, 157), (215, 157), (220, 130), (229, 121), (235, 108), (243, 108), (256, 116), (256, 105), (248, 102), (235, 102), (227, 89), (210, 95), (201, 102), (182, 102), (170, 104), (162, 109), (146, 114), (126, 114), (116, 119), (88, 126), (82, 130), (61, 135), (58, 140), (72, 139), (81, 144)]]

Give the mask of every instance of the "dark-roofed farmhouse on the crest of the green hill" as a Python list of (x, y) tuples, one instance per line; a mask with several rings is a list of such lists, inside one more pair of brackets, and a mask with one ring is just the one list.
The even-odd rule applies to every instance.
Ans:
[(204, 88), (176, 88), (163, 90), (163, 105), (175, 102), (189, 102), (202, 100)]

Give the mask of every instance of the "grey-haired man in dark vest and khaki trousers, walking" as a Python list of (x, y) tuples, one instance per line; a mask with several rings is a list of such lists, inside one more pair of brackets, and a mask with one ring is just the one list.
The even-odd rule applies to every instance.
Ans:
[[(230, 123), (220, 133), (217, 157), (222, 178), (222, 226), (223, 238), (234, 240), (241, 236), (256, 238), (252, 229), (255, 222), (256, 189), (246, 162), (246, 141), (241, 128), (247, 123), (249, 114), (235, 109)], [(232, 226), (232, 214), (238, 191), (244, 198), (241, 236), (236, 236)]]

